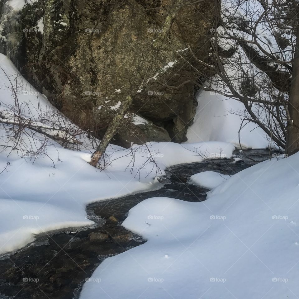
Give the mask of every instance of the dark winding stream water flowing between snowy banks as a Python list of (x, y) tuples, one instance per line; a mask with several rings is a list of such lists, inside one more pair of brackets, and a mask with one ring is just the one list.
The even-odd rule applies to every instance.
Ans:
[[(228, 159), (206, 160), (180, 164), (166, 171), (158, 190), (97, 202), (87, 207), (93, 228), (58, 232), (40, 236), (18, 252), (0, 260), (0, 299), (71, 299), (78, 298), (85, 280), (106, 258), (119, 254), (145, 241), (121, 227), (128, 211), (139, 202), (157, 196), (178, 198), (189, 202), (206, 199), (207, 189), (187, 183), (188, 178), (202, 171), (233, 175), (258, 162), (269, 159), (268, 150), (247, 150), (244, 162), (233, 164)], [(116, 219), (109, 219), (114, 216)], [(107, 240), (93, 240), (92, 232), (105, 234)]]

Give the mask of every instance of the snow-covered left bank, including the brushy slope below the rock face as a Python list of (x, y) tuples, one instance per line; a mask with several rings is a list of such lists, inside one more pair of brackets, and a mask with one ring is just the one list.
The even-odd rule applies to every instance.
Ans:
[[(16, 108), (23, 120), (44, 126), (50, 135), (63, 136), (53, 124), (77, 130), (44, 95), (17, 76), (6, 56), (0, 55), (0, 61), (7, 74), (0, 70), (2, 121), (14, 121)], [(17, 103), (8, 78), (18, 87)], [(21, 248), (45, 231), (93, 224), (86, 217), (88, 203), (158, 187), (156, 175), (163, 175), (170, 165), (215, 158), (220, 153), (230, 157), (235, 149), (225, 142), (184, 146), (152, 142), (134, 145), (133, 159), (130, 149), (109, 146), (106, 169), (100, 171), (87, 163), (92, 140), (84, 132), (77, 136), (79, 151), (73, 151), (28, 128), (20, 135), (23, 141), (16, 143), (11, 129), (12, 125), (0, 125), (0, 254)], [(44, 149), (34, 154), (40, 147)]]

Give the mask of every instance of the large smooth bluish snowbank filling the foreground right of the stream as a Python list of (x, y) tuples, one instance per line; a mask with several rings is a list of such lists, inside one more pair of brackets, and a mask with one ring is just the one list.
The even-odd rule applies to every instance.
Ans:
[(147, 242), (105, 259), (80, 299), (296, 298), (298, 167), (297, 153), (235, 174), (204, 202), (140, 202), (122, 225)]

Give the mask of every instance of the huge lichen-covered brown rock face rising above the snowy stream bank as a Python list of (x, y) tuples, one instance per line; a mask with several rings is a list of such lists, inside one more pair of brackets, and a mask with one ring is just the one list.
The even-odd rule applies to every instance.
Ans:
[(2, 1), (0, 51), (50, 102), (101, 137), (134, 101), (115, 142), (186, 141), (195, 82), (207, 75), (213, 3), (183, 0)]

